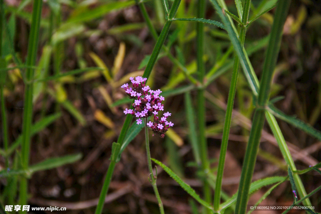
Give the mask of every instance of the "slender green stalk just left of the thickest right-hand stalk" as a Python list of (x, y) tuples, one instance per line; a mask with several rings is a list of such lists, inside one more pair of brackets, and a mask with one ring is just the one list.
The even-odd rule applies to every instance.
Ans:
[[(248, 20), (248, 13), (250, 11), (250, 6), (251, 6), (251, 0), (246, 0), (244, 3), (243, 17), (242, 17), (243, 26), (241, 27), (241, 31), (239, 35), (239, 40), (242, 47), (244, 45), (244, 40), (245, 40), (245, 34), (247, 29), (246, 24)], [(225, 113), (225, 122), (224, 122), (224, 129), (223, 129), (223, 136), (222, 136), (222, 143), (221, 143), (220, 159), (219, 159), (219, 165), (217, 169), (216, 187), (215, 187), (215, 195), (214, 195), (214, 211), (219, 210), (220, 202), (221, 202), (223, 171), (224, 171), (225, 157), (227, 152), (227, 145), (229, 142), (230, 126), (231, 126), (231, 120), (232, 120), (232, 112), (233, 112), (233, 105), (234, 105), (234, 98), (235, 98), (238, 76), (239, 76), (239, 57), (235, 56), (229, 97), (228, 97), (227, 108)]]

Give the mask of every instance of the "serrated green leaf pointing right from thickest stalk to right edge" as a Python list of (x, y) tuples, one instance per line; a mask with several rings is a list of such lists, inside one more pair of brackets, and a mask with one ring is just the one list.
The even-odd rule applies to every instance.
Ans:
[(269, 105), (268, 110), (277, 118), (293, 125), (294, 127), (298, 128), (298, 129), (301, 129), (302, 131), (310, 134), (311, 136), (313, 136), (321, 141), (321, 132), (318, 131), (317, 129), (313, 128), (310, 124), (307, 124), (307, 123), (303, 122), (302, 120), (297, 119), (295, 117), (288, 116), (288, 115), (284, 114), (282, 111), (280, 111), (279, 109), (277, 109), (273, 105)]

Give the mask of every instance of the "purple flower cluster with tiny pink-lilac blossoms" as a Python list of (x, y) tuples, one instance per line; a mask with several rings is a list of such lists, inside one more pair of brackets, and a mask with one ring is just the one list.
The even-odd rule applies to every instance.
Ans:
[[(146, 85), (147, 78), (138, 76), (129, 78), (133, 83), (133, 88), (128, 88), (128, 84), (124, 84), (121, 88), (125, 89), (125, 92), (131, 99), (135, 99), (133, 103), (134, 109), (127, 109), (124, 111), (126, 114), (135, 115), (138, 117), (136, 119), (137, 124), (142, 124), (142, 118), (148, 118), (154, 115), (154, 122), (149, 121), (147, 125), (152, 129), (154, 134), (158, 134), (161, 138), (164, 138), (170, 126), (174, 124), (167, 121), (167, 117), (171, 113), (167, 112), (163, 114), (163, 117), (159, 119), (158, 112), (164, 111), (164, 105), (161, 101), (165, 100), (163, 96), (160, 96), (161, 90), (151, 90), (151, 88)], [(143, 97), (142, 97), (143, 96)]]

